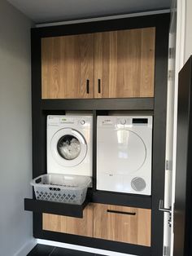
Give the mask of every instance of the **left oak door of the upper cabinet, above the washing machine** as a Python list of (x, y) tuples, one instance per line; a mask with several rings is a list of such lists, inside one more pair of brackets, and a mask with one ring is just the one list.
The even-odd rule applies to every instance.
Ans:
[(41, 39), (42, 99), (94, 96), (94, 35)]

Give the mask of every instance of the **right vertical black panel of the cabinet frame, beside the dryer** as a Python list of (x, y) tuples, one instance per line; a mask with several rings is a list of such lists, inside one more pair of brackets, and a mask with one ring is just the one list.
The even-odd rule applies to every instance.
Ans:
[[(153, 256), (163, 255), (164, 214), (159, 211), (159, 200), (164, 198), (164, 163), (168, 82), (168, 30), (169, 17), (159, 20), (155, 38), (155, 102), (153, 126), (152, 169), (152, 226)], [(164, 29), (163, 29), (164, 26)]]

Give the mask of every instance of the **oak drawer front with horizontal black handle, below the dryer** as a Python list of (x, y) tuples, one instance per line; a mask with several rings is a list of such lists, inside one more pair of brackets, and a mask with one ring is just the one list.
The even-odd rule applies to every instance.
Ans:
[(151, 210), (94, 204), (94, 237), (151, 246)]

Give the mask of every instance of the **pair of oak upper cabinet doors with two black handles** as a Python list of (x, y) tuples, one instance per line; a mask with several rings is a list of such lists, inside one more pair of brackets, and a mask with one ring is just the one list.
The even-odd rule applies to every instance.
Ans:
[(153, 97), (155, 28), (41, 39), (42, 99)]

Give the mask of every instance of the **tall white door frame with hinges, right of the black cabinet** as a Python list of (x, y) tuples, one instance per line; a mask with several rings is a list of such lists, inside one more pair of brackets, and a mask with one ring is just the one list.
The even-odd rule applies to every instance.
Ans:
[[(173, 15), (177, 15), (177, 26), (176, 26), (176, 43), (175, 43), (175, 63), (174, 63), (174, 77), (172, 77), (172, 80), (174, 80), (173, 88), (168, 88), (168, 93), (171, 95), (170, 98), (168, 96), (168, 117), (170, 118), (170, 115), (172, 115), (172, 123), (167, 121), (167, 132), (168, 136), (172, 136), (172, 138), (167, 137), (167, 145), (166, 145), (166, 160), (168, 160), (168, 163), (171, 163), (171, 166), (167, 166), (167, 170), (170, 172), (172, 171), (172, 174), (168, 174), (168, 171), (165, 171), (165, 195), (164, 195), (164, 203), (165, 207), (168, 208), (172, 206), (172, 227), (171, 227), (171, 235), (170, 231), (168, 231), (168, 214), (164, 214), (164, 245), (170, 247), (170, 251), (168, 251), (168, 255), (173, 255), (173, 240), (174, 240), (174, 234), (173, 234), (173, 222), (174, 222), (174, 202), (175, 202), (175, 183), (176, 183), (176, 153), (177, 153), (177, 96), (178, 96), (178, 73), (181, 70), (182, 66), (184, 65), (185, 61), (185, 3), (186, 0), (172, 0), (172, 10), (171, 10), (171, 23), (173, 19)], [(174, 22), (174, 21), (173, 21)], [(170, 35), (171, 36), (171, 35)], [(172, 63), (171, 63), (172, 65)], [(171, 68), (172, 69), (172, 68)], [(170, 86), (168, 82), (168, 86)], [(169, 102), (170, 101), (170, 102)], [(171, 107), (170, 104), (173, 104)], [(171, 110), (172, 109), (172, 110)], [(172, 145), (168, 144), (172, 143)], [(172, 180), (168, 180), (168, 179)], [(172, 188), (168, 189), (168, 184), (172, 186)], [(170, 202), (171, 201), (171, 202)], [(166, 229), (167, 228), (167, 229)], [(169, 237), (168, 237), (169, 236)], [(170, 237), (171, 236), (171, 237)]]

